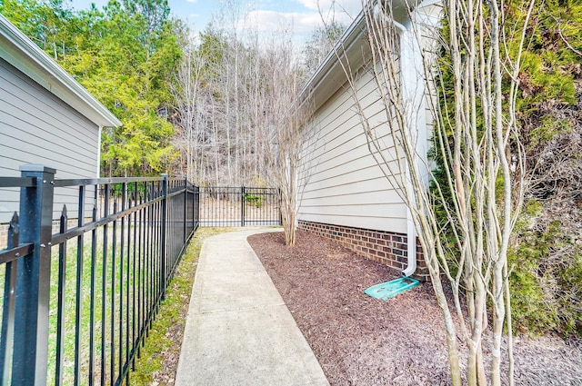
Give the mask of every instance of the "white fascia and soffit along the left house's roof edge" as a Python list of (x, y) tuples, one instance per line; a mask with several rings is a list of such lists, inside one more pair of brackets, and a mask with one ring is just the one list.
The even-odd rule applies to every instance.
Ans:
[(121, 121), (97, 101), (95, 96), (3, 15), (0, 15), (0, 57), (97, 126), (121, 125)]

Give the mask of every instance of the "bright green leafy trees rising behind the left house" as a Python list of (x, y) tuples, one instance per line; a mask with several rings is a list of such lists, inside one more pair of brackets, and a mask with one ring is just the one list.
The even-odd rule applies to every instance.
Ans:
[(158, 175), (176, 159), (169, 84), (180, 22), (165, 0), (110, 0), (76, 12), (64, 0), (6, 0), (0, 12), (123, 123), (103, 131), (102, 175)]

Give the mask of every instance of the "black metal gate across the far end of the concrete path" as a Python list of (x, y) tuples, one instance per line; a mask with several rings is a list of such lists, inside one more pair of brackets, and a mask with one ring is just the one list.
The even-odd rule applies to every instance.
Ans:
[(281, 224), (281, 199), (275, 188), (200, 187), (200, 226)]

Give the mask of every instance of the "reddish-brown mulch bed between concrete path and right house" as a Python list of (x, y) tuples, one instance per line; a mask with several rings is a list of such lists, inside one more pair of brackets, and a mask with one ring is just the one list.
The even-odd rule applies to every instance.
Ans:
[[(364, 290), (399, 277), (381, 263), (305, 232), (292, 248), (283, 233), (248, 241), (332, 385), (448, 384), (443, 322), (430, 284), (381, 302)], [(582, 385), (581, 339), (518, 338), (514, 355), (517, 385)]]

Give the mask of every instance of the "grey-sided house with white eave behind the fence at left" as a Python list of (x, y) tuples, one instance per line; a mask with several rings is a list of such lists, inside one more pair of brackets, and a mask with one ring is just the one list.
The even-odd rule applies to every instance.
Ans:
[[(101, 129), (121, 122), (48, 55), (0, 15), (0, 175), (39, 163), (59, 179), (99, 176)], [(55, 209), (67, 199), (56, 192)], [(19, 192), (0, 189), (0, 223), (18, 209)]]

